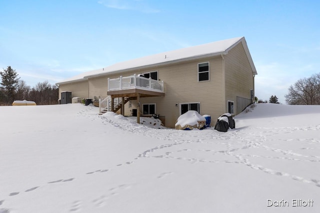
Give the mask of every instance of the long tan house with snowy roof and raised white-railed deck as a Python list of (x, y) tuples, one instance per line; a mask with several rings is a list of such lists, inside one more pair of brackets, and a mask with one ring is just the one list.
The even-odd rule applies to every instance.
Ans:
[(188, 110), (213, 121), (240, 113), (253, 100), (256, 74), (245, 38), (236, 37), (116, 63), (56, 85), (59, 96), (71, 91), (72, 97), (100, 98), (101, 111), (157, 114), (174, 127)]

